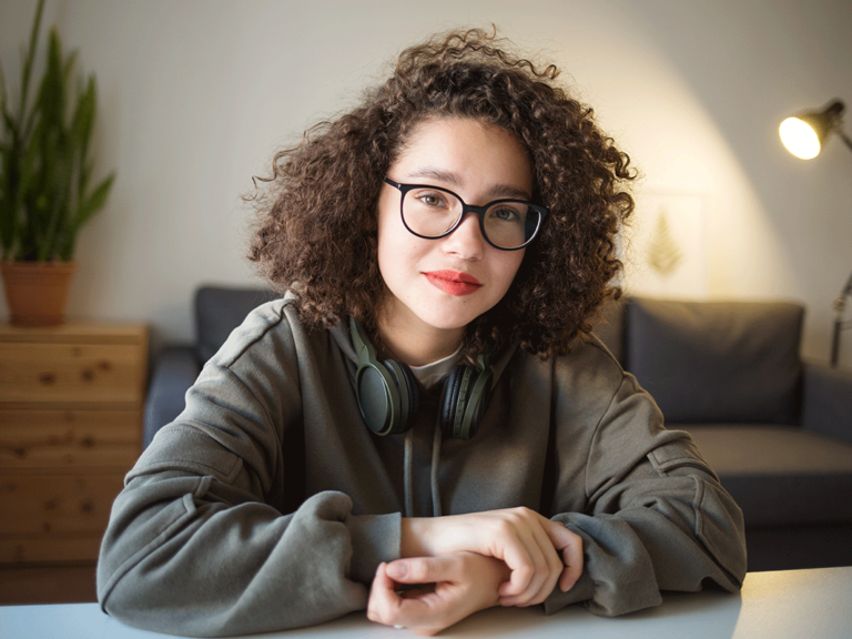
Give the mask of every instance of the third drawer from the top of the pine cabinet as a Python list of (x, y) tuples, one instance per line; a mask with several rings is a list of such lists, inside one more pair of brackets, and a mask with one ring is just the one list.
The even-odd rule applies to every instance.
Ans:
[(124, 474), (0, 476), (0, 540), (100, 537)]

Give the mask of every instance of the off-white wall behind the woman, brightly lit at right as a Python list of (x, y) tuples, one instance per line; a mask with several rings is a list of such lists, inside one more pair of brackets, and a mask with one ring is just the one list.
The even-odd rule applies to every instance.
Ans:
[[(33, 8), (0, 3), (8, 79)], [(98, 75), (98, 165), (119, 175), (81, 234), (72, 315), (191, 338), (200, 283), (258, 283), (240, 195), (274, 150), (407, 43), (494, 22), (596, 108), (645, 176), (640, 204), (642, 192), (700, 196), (707, 296), (801, 301), (804, 352), (828, 357), (852, 270), (852, 153), (835, 139), (795, 160), (777, 128), (834, 97), (852, 109), (848, 0), (48, 0), (45, 19)]]

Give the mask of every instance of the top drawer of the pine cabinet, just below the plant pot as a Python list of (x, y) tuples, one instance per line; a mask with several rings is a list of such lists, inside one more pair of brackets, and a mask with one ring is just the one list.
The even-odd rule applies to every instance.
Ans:
[(0, 343), (0, 403), (141, 404), (146, 355), (134, 344)]

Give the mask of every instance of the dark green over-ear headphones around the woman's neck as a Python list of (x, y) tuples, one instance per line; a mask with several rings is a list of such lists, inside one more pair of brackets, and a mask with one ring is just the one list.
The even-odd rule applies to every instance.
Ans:
[[(349, 333), (358, 355), (355, 394), (364, 422), (376, 435), (405, 433), (412, 427), (408, 418), (419, 407), (414, 374), (403, 362), (379, 362), (366, 332), (352, 317)], [(480, 355), (477, 364), (477, 367), (457, 364), (444, 384), (440, 427), (448, 437), (465, 440), (475, 437), (488, 406), (494, 385), (490, 353)]]

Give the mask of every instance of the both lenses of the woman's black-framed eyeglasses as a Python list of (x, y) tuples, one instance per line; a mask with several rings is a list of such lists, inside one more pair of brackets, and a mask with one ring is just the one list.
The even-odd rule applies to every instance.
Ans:
[[(414, 233), (440, 237), (463, 215), (462, 201), (443, 189), (416, 187), (403, 197), (403, 220)], [(526, 244), (538, 230), (541, 215), (524, 202), (507, 201), (490, 205), (483, 217), (487, 240), (500, 248)]]

